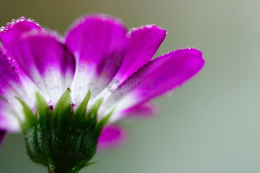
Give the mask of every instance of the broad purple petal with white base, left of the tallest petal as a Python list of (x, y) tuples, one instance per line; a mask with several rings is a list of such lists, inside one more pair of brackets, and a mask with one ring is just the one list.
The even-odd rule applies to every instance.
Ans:
[(71, 87), (75, 59), (65, 45), (47, 32), (32, 30), (14, 45), (14, 56), (26, 75), (55, 105)]

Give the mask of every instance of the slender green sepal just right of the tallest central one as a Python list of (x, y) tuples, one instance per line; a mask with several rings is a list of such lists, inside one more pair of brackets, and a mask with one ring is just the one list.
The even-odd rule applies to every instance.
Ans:
[(86, 119), (86, 107), (90, 98), (90, 90), (86, 94), (85, 98), (81, 102), (80, 106), (77, 108), (71, 123), (71, 135), (70, 135), (70, 145), (68, 152), (70, 155), (74, 155), (78, 152), (80, 148), (80, 142), (82, 133), (84, 132), (84, 124)]

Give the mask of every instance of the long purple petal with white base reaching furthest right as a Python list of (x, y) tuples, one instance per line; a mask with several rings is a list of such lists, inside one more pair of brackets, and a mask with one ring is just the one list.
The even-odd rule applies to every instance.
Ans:
[[(153, 59), (130, 76), (122, 84), (122, 90), (118, 94), (110, 95), (101, 105), (99, 112), (106, 114), (116, 107), (115, 113), (110, 117), (110, 121), (114, 121), (121, 117), (121, 111), (143, 104), (182, 85), (195, 75), (203, 64), (202, 53), (196, 49), (176, 50)], [(134, 81), (131, 88), (128, 87), (129, 80)], [(137, 83), (143, 85), (136, 85)]]

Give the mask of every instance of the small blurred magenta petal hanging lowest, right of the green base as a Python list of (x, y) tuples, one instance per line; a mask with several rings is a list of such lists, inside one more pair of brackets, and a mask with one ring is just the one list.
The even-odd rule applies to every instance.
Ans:
[(118, 125), (105, 126), (98, 139), (98, 150), (112, 149), (126, 142), (126, 131)]

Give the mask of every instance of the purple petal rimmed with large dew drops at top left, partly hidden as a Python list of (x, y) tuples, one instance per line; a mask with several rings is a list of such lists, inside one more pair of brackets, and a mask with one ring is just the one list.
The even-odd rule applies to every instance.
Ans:
[[(21, 19), (23, 21), (21, 21)], [(13, 46), (20, 39), (20, 37), (23, 36), (24, 33), (27, 33), (30, 30), (41, 31), (41, 28), (33, 22), (26, 20), (24, 21), (23, 17), (18, 20), (19, 22), (15, 22), (13, 24), (11, 22), (11, 24), (8, 25), (7, 30), (0, 32), (0, 41), (3, 44), (3, 47), (1, 45), (0, 47), (2, 51), (4, 50), (6, 57), (9, 58), (11, 65), (15, 66), (15, 71), (18, 72), (21, 78), (23, 78), (24, 72), (21, 70), (20, 66), (12, 56), (14, 51)]]

